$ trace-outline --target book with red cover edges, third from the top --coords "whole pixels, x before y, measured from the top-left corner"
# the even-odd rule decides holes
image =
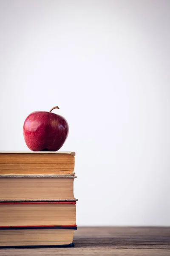
[[[0,227],[75,226],[76,202],[0,203]]]

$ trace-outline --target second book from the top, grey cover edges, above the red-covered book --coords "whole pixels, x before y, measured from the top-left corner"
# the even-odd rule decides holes
[[[73,193],[74,178],[0,175],[0,202],[77,201]]]

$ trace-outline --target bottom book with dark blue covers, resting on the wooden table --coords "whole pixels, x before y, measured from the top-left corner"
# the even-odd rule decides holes
[[[77,226],[0,227],[0,248],[73,247]]]

